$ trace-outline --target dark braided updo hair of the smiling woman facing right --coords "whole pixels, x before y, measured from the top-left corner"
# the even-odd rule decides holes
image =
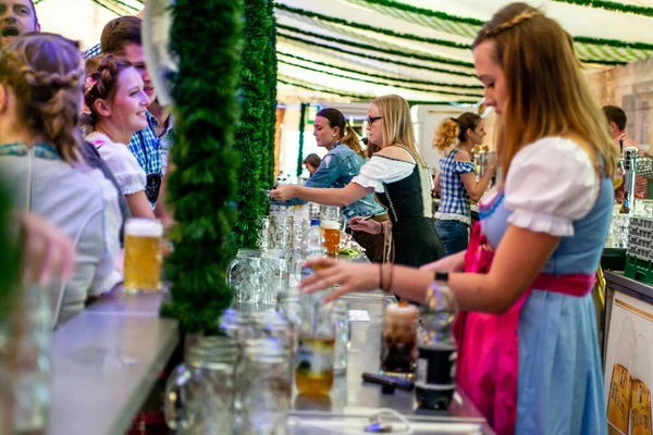
[[[88,112],[84,114],[82,124],[94,126],[98,122],[100,114],[95,108],[96,100],[113,98],[118,90],[119,75],[128,67],[132,67],[130,61],[113,54],[90,58],[86,61],[84,103]]]

